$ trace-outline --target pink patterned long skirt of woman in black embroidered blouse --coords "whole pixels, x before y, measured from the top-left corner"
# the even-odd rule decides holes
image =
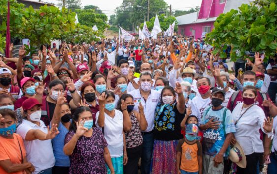
[[[176,146],[178,140],[160,141],[154,139],[150,174],[177,174]]]

